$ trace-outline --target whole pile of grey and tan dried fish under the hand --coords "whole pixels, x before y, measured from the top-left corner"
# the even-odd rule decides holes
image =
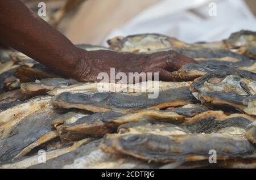
[[[151,99],[147,84],[99,92],[100,83],[63,79],[1,50],[0,168],[256,168],[256,32],[195,44],[157,34],[108,43],[77,46],[176,50],[198,64],[171,72],[173,82],[159,82]]]

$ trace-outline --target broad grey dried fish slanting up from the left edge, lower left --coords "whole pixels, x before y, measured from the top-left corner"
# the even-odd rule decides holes
[[[11,127],[9,135],[0,140],[0,161],[22,157],[38,145],[57,138],[57,133],[51,127],[51,121],[63,111],[48,107],[30,114],[16,123]],[[7,128],[5,128],[6,130]]]

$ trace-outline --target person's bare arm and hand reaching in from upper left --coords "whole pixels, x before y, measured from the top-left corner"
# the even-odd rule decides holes
[[[80,82],[97,81],[100,72],[159,72],[170,80],[170,71],[195,62],[174,51],[148,55],[122,54],[108,50],[88,52],[77,48],[18,0],[0,1],[0,40],[53,71]]]

